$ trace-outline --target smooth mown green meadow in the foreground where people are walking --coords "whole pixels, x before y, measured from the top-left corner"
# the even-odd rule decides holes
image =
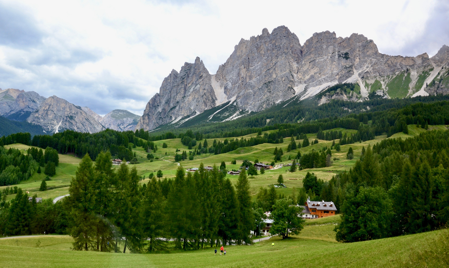
[[[447,229],[343,244],[335,242],[334,227],[308,225],[293,238],[275,237],[253,246],[225,246],[226,256],[214,255],[215,247],[168,254],[71,251],[69,236],[14,237],[0,239],[0,264],[2,268],[448,267]],[[272,242],[275,246],[271,246]]]

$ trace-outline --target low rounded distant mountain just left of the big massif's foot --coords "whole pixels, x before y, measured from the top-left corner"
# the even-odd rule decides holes
[[[111,130],[134,130],[141,116],[127,110],[114,110],[100,119],[101,125]]]

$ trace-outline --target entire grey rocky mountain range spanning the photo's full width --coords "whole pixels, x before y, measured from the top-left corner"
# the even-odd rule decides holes
[[[141,117],[127,110],[101,117],[57,96],[17,89],[0,89],[0,116],[39,125],[46,133],[150,131],[231,121],[304,99],[321,105],[332,99],[361,102],[448,93],[446,45],[432,57],[389,56],[363,35],[342,38],[325,31],[301,45],[286,26],[279,26],[241,39],[215,74],[199,57],[179,72],[173,69]]]

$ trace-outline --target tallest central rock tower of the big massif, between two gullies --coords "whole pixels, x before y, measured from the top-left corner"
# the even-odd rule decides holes
[[[285,26],[270,34],[241,39],[225,64],[220,65],[215,80],[227,99],[250,111],[261,111],[295,95],[296,73],[302,52],[298,37]]]

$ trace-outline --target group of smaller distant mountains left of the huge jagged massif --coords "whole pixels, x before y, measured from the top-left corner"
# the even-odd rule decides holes
[[[0,89],[0,116],[23,124],[8,126],[11,131],[24,128],[26,122],[42,127],[44,133],[64,130],[95,133],[107,128],[119,131],[134,130],[140,116],[127,110],[114,110],[101,117],[88,107],[71,104],[65,99],[45,98],[34,91]],[[11,122],[2,120],[2,125]],[[29,128],[26,126],[25,128]],[[31,128],[32,129],[32,128]],[[39,133],[39,130],[37,130]]]

